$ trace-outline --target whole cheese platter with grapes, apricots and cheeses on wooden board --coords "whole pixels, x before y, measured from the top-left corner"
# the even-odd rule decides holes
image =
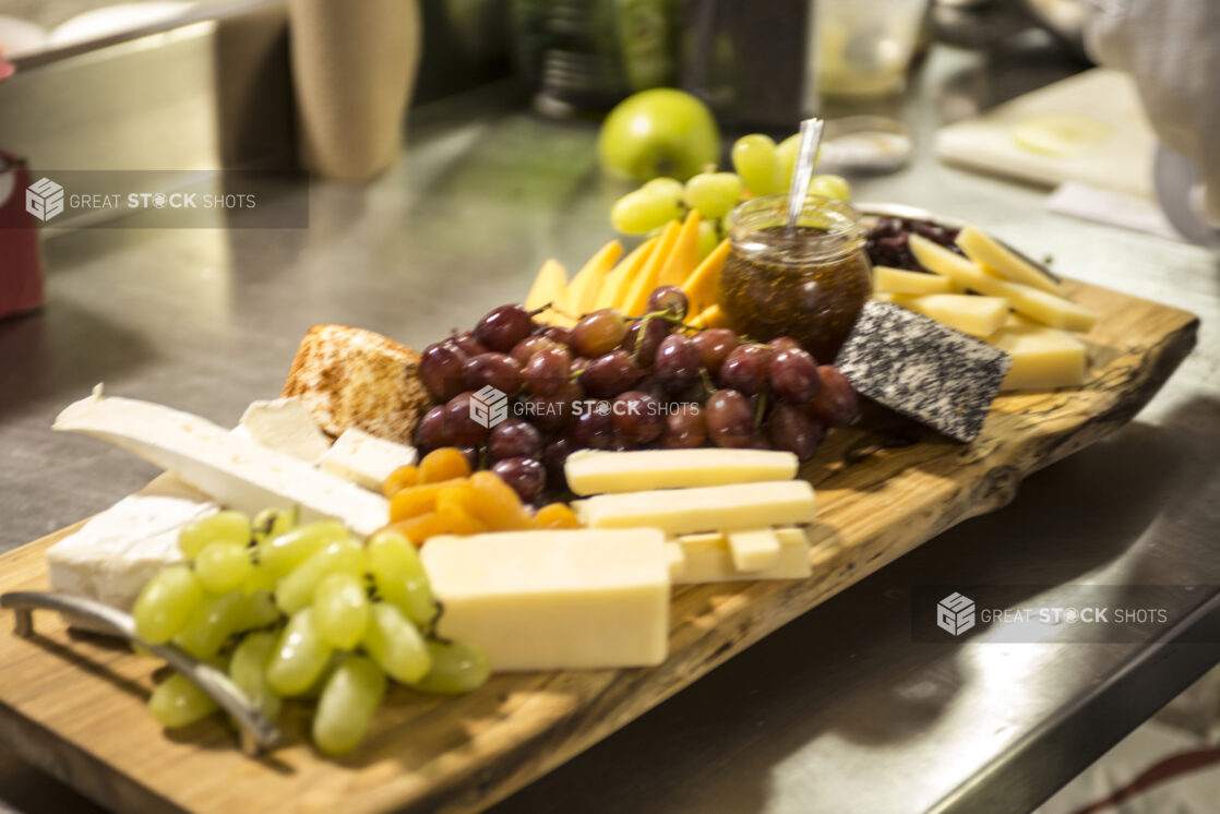
[[[803,239],[855,217],[811,212]],[[137,641],[227,674],[278,740],[244,754],[181,668],[13,609],[0,737],[120,810],[481,810],[1004,505],[1193,347],[1185,311],[950,218],[866,215],[843,229],[869,290],[837,336],[745,330],[784,309],[733,281],[854,261],[793,262],[756,221],[770,255],[732,226],[700,245],[691,206],[571,279],[549,261],[521,304],[422,353],[317,326],[233,431],[100,388],[68,405],[56,430],[166,474],[0,555],[0,594],[131,611]]]

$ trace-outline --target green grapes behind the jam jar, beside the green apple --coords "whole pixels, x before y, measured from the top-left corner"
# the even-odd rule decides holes
[[[689,210],[699,212],[699,256],[711,251],[728,233],[728,214],[748,198],[788,192],[800,137],[776,144],[769,135],[752,133],[733,144],[736,172],[706,172],[684,184],[673,178],[654,178],[627,193],[610,207],[610,225],[625,234],[649,234]],[[810,195],[848,200],[852,187],[841,176],[814,176]]]

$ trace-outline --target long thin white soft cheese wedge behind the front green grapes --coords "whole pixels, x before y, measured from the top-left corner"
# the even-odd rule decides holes
[[[379,494],[206,419],[149,402],[105,397],[100,388],[65,408],[52,430],[107,441],[176,474],[217,503],[249,514],[298,506],[303,521],[339,520],[362,536],[389,519],[389,502]]]

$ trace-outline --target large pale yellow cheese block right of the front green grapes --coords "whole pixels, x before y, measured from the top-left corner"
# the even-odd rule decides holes
[[[656,530],[442,536],[421,556],[444,607],[438,632],[481,646],[495,671],[665,660],[670,565]]]

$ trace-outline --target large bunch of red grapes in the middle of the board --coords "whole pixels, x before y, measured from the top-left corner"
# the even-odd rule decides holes
[[[458,447],[526,502],[562,491],[577,449],[783,449],[809,460],[827,427],[858,415],[855,391],[787,337],[743,340],[727,328],[683,325],[687,298],[661,286],[647,314],[586,314],[571,328],[501,305],[473,331],[428,345],[420,364],[436,406],[420,420],[421,454]],[[483,426],[471,410],[487,386],[506,419]]]

